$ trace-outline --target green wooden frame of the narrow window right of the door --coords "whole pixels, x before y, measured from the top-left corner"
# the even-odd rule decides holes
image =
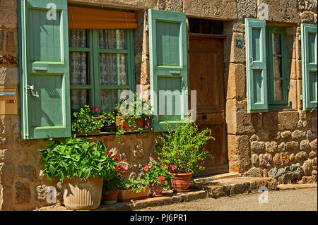
[[[273,35],[281,35],[281,54],[273,54]],[[281,73],[282,78],[275,78],[275,68],[273,66],[274,57],[281,57]],[[266,66],[268,78],[268,104],[269,109],[285,109],[290,108],[288,105],[288,74],[287,74],[287,47],[286,32],[283,27],[266,26]],[[275,81],[283,82],[283,100],[275,101]]]

